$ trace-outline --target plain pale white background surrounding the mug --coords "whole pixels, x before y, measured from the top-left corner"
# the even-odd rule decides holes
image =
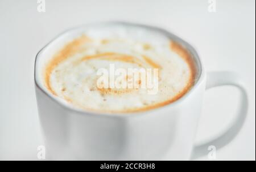
[[[67,28],[90,21],[122,20],[168,29],[191,43],[208,71],[242,75],[249,113],[240,134],[217,150],[217,160],[255,160],[255,1],[53,1],[0,0],[0,160],[37,160],[43,144],[34,90],[36,53]],[[197,141],[225,129],[236,113],[239,92],[207,91]],[[202,157],[199,160],[208,160]]]

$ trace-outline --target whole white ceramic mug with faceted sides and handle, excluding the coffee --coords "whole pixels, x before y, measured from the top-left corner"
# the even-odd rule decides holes
[[[66,40],[89,25],[134,25],[162,32],[184,46],[199,71],[195,85],[172,104],[131,114],[101,114],[73,108],[49,93],[42,79],[43,65]],[[108,22],[89,24],[64,32],[36,55],[35,88],[40,123],[46,141],[46,156],[53,160],[189,160],[228,144],[240,131],[247,111],[245,87],[233,72],[205,73],[195,49],[163,29],[146,25]],[[236,121],[220,137],[194,145],[205,89],[234,85],[242,92]],[[168,153],[168,158],[166,155]]]

